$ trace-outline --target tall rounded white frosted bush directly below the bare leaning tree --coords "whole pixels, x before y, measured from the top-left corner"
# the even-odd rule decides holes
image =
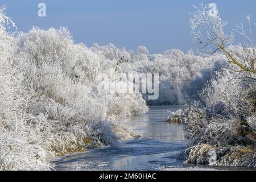
[[[246,84],[240,77],[239,74],[224,70],[222,73],[217,73],[216,78],[203,89],[200,97],[210,109],[210,113],[241,115],[241,117],[250,115],[254,106],[248,100],[250,97],[248,94],[254,88],[254,82]]]

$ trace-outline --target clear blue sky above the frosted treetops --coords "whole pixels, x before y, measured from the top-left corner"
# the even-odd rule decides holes
[[[46,18],[38,17],[38,3],[46,3]],[[75,42],[92,46],[93,43],[136,50],[146,46],[151,53],[166,49],[183,51],[197,46],[191,42],[189,14],[192,5],[214,2],[222,17],[229,22],[245,22],[250,14],[256,22],[255,0],[187,1],[187,0],[1,0],[6,13],[12,17],[19,31],[32,26],[44,29],[68,27]],[[256,34],[256,32],[255,32]]]

